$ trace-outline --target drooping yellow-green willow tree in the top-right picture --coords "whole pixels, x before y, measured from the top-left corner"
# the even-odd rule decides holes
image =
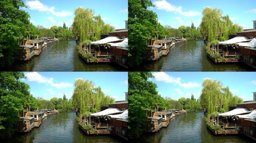
[[[201,33],[208,35],[208,42],[225,41],[229,35],[242,31],[242,27],[233,24],[228,15],[223,15],[221,9],[205,7],[202,12]]]

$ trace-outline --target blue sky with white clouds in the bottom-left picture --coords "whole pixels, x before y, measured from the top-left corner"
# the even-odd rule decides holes
[[[105,95],[115,101],[125,100],[124,92],[128,91],[127,72],[25,72],[25,76],[21,81],[30,86],[32,95],[48,100],[63,98],[63,93],[70,99],[78,78],[93,80],[95,86],[100,86]]]

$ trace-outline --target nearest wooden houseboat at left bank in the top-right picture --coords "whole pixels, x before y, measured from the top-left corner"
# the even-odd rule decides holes
[[[148,50],[146,51],[146,57],[144,60],[146,61],[154,61],[158,60],[162,57],[162,45],[150,45],[148,46]]]

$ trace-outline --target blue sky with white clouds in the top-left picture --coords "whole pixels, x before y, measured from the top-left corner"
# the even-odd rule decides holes
[[[115,29],[124,29],[124,20],[128,19],[127,0],[23,0],[27,8],[22,7],[30,14],[33,25],[71,26],[74,10],[77,7],[94,9],[96,15],[101,15],[105,23]]]

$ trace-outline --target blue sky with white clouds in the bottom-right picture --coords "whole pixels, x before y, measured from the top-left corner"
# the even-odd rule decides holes
[[[223,86],[228,86],[233,95],[243,98],[243,101],[253,100],[256,91],[256,72],[152,72],[158,86],[158,93],[162,97],[178,100],[181,97],[196,99],[202,90],[205,78],[220,80]]]

